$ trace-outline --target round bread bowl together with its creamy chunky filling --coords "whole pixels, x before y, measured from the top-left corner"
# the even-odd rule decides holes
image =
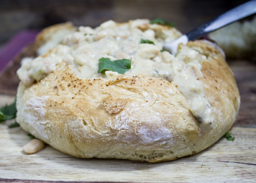
[[[17,71],[17,122],[76,157],[160,162],[204,150],[235,122],[239,91],[222,52],[209,42],[180,44],[175,56],[162,50],[179,36],[147,19],[72,29],[62,44]],[[101,58],[127,59],[131,68],[101,73]]]

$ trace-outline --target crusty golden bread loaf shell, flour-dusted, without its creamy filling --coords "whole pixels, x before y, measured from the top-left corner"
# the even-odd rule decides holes
[[[155,29],[171,30],[172,39],[180,36],[174,28],[157,25]],[[198,54],[194,60],[201,60],[202,76],[195,80],[203,83],[213,121],[204,121],[193,112],[190,95],[175,78],[168,81],[132,71],[82,78],[74,65],[61,61],[51,72],[35,78],[35,83],[20,82],[17,122],[36,138],[77,157],[160,162],[198,153],[230,130],[240,96],[218,49],[205,41],[190,41],[179,45],[172,62],[177,58],[189,62],[186,49]],[[168,54],[158,52],[156,57]],[[44,57],[53,53],[54,49]],[[200,73],[195,66],[191,70]]]

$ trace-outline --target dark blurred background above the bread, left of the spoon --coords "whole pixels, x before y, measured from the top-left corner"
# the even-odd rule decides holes
[[[41,30],[66,21],[98,26],[112,19],[163,18],[175,22],[183,33],[223,13],[244,0],[1,0],[0,49],[24,29]]]

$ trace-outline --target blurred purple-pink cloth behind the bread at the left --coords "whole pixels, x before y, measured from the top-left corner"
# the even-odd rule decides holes
[[[35,41],[37,30],[23,30],[13,36],[0,50],[0,71],[18,52],[30,42]]]

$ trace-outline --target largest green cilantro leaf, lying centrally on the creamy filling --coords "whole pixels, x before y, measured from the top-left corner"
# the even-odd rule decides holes
[[[131,68],[131,60],[128,59],[111,61],[109,58],[102,57],[99,61],[98,73],[101,74],[104,74],[107,70],[118,72],[119,74],[125,74],[125,72]]]

